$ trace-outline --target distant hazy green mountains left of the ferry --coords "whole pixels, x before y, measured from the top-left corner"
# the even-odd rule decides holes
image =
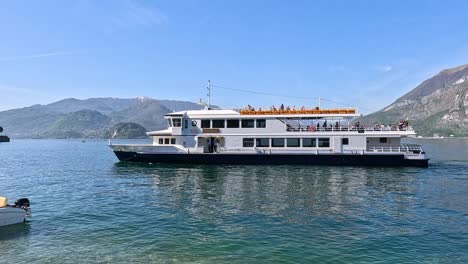
[[[2,111],[0,125],[13,138],[107,138],[110,130],[118,130],[117,137],[141,137],[143,130],[165,128],[166,113],[201,108],[192,102],[148,97],[68,98]]]

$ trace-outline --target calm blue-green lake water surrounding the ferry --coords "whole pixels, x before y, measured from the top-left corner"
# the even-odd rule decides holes
[[[0,263],[468,263],[468,140],[429,168],[118,163],[106,141],[0,143]]]

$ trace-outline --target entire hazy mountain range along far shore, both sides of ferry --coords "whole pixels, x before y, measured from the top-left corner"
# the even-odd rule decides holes
[[[148,130],[167,126],[164,114],[196,110],[186,101],[90,98],[64,99],[0,112],[0,126],[13,138],[144,137]],[[408,120],[422,136],[468,136],[468,64],[445,69],[425,80],[361,123],[396,124]]]

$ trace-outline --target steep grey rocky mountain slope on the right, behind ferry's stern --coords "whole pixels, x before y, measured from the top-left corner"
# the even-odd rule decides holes
[[[395,123],[406,118],[422,136],[468,136],[468,64],[441,71],[363,121]]]

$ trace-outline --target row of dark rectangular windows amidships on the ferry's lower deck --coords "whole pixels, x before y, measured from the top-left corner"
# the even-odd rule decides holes
[[[262,148],[329,148],[330,138],[243,138],[242,146],[244,148],[262,147]]]

